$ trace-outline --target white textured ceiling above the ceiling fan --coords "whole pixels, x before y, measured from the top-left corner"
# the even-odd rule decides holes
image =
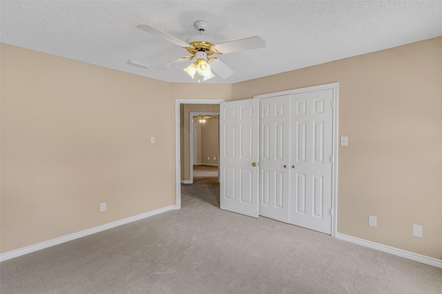
[[[198,82],[160,66],[186,50],[136,27],[185,41],[197,20],[216,43],[260,36],[267,47],[220,55],[233,84],[442,36],[442,1],[3,1],[0,41],[169,82]],[[441,52],[442,54],[442,52]],[[190,61],[189,61],[190,63]]]

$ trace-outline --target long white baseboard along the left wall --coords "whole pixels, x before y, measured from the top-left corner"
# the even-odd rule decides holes
[[[37,243],[34,245],[30,245],[30,246],[26,246],[23,248],[19,248],[17,250],[14,251],[9,251],[3,254],[0,254],[0,262],[3,262],[5,260],[11,259],[11,258],[15,258],[15,257],[19,257],[21,255],[25,255],[28,253],[32,253],[35,251],[39,251],[41,249],[44,248],[48,248],[50,246],[55,246],[64,242],[68,242],[68,241],[72,241],[73,239],[78,239],[81,237],[85,237],[87,235],[92,235],[101,231],[105,231],[108,230],[109,228],[115,228],[116,226],[122,226],[123,224],[128,224],[130,222],[135,222],[137,220],[140,219],[145,219],[146,217],[151,217],[153,215],[158,215],[160,213],[165,213],[166,211],[169,210],[174,210],[176,209],[175,205],[170,205],[170,206],[166,206],[166,207],[162,207],[162,208],[158,208],[155,210],[151,210],[148,211],[147,213],[141,213],[140,215],[134,215],[133,217],[127,217],[125,219],[120,219],[117,220],[115,222],[110,222],[108,224],[103,224],[101,226],[95,226],[94,228],[88,228],[87,230],[84,231],[79,231],[77,233],[72,233],[69,235],[64,235],[55,239],[50,239],[48,241],[44,241],[41,243]]]

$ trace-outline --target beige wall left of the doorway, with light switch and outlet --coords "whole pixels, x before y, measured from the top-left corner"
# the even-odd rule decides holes
[[[175,204],[171,84],[0,49],[1,253]]]

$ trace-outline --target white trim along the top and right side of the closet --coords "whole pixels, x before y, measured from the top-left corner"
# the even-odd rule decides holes
[[[273,92],[264,95],[253,96],[253,99],[265,99],[275,96],[299,94],[316,90],[333,90],[333,122],[332,122],[332,237],[336,237],[338,219],[338,115],[339,115],[339,83],[323,84],[306,88]]]

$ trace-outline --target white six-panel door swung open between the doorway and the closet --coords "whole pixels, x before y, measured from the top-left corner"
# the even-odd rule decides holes
[[[258,217],[258,99],[220,104],[220,208]]]

